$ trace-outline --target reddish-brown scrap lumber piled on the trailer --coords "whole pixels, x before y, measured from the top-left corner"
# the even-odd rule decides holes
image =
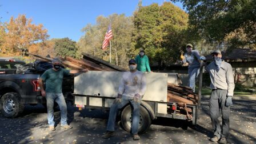
[[[53,58],[42,57],[40,55],[30,54],[34,57],[43,59],[44,61],[50,62]],[[75,70],[89,69],[93,71],[126,71],[125,68],[113,65],[107,61],[103,61],[93,55],[82,53],[82,59],[74,59],[72,57],[61,58],[61,63],[63,66],[70,67]],[[198,95],[193,93],[190,87],[176,85],[173,83],[168,83],[167,85],[167,102],[175,102],[178,105],[177,113],[187,115],[190,119],[192,110],[187,107],[189,105],[196,105],[198,100]]]

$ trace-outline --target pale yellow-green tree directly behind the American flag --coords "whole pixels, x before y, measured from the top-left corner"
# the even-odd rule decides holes
[[[99,16],[95,25],[87,25],[82,29],[85,35],[79,39],[79,51],[93,54],[98,58],[110,60],[110,46],[102,50],[106,30],[111,23],[113,39],[111,39],[111,62],[127,67],[128,59],[132,58],[133,43],[131,41],[133,21],[125,14],[112,14],[109,17]]]

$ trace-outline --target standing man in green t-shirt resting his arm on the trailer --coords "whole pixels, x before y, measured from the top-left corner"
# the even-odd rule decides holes
[[[54,101],[58,103],[59,109],[61,109],[61,127],[65,129],[71,129],[72,127],[67,125],[67,106],[62,94],[62,81],[63,77],[69,74],[75,74],[79,72],[87,72],[88,69],[79,70],[66,70],[61,68],[61,61],[54,58],[51,62],[53,69],[46,70],[39,78],[39,86],[41,88],[41,94],[46,97],[47,101],[47,119],[49,123],[49,129],[55,130],[54,127],[54,115],[53,107]],[[43,82],[46,83],[46,89],[43,87]]]

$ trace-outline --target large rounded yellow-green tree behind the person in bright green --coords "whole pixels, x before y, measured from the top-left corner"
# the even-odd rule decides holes
[[[170,2],[153,3],[134,13],[134,43],[145,49],[149,58],[158,62],[175,62],[186,43],[188,15]]]

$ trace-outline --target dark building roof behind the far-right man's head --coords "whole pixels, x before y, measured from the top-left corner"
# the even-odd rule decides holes
[[[256,50],[234,49],[231,52],[221,51],[222,59],[227,62],[256,61]],[[207,60],[211,60],[211,55],[206,55]]]

